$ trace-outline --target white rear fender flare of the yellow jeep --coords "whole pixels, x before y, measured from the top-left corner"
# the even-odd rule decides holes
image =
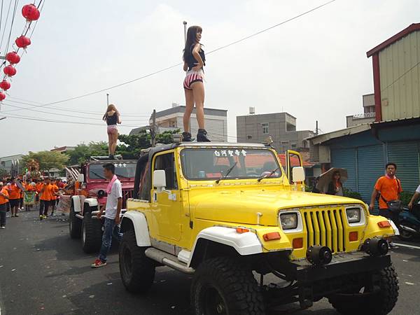
[[[136,235],[137,246],[151,246],[151,237],[148,232],[146,216],[139,211],[127,211],[121,219],[121,230],[124,233],[130,230],[130,226],[134,229]]]

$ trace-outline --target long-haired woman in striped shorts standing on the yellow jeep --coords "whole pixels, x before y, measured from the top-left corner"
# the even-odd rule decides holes
[[[183,116],[183,141],[191,141],[190,117],[193,113],[194,104],[198,122],[197,141],[209,142],[207,132],[204,129],[204,71],[206,57],[202,44],[200,44],[202,28],[192,26],[188,28],[186,47],[183,50],[183,70],[187,71],[183,81],[186,94],[186,112]]]

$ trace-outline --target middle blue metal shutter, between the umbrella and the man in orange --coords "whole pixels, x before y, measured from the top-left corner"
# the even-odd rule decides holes
[[[357,161],[358,193],[369,204],[374,184],[384,175],[384,147],[378,145],[358,148]]]

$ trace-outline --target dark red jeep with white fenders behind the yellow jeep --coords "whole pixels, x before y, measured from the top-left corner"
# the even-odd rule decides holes
[[[113,163],[116,176],[123,186],[123,210],[126,202],[132,197],[134,175],[137,160],[108,160],[107,157],[91,157],[90,161],[79,167],[69,167],[67,172],[76,180],[74,193],[71,196],[69,232],[72,239],[82,239],[85,253],[99,251],[102,244],[103,217],[97,218],[99,207],[106,204],[106,187],[109,181],[104,178],[103,165]]]

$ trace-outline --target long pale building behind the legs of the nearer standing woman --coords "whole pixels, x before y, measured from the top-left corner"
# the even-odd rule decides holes
[[[172,104],[172,108],[156,112],[156,125],[158,132],[166,130],[183,130],[183,114],[186,106]],[[150,122],[151,123],[151,122]],[[211,141],[228,141],[228,111],[225,109],[204,109],[204,125]],[[137,134],[147,130],[148,126],[133,129],[130,134]],[[191,114],[190,130],[193,137],[198,132],[197,116],[195,109]]]

